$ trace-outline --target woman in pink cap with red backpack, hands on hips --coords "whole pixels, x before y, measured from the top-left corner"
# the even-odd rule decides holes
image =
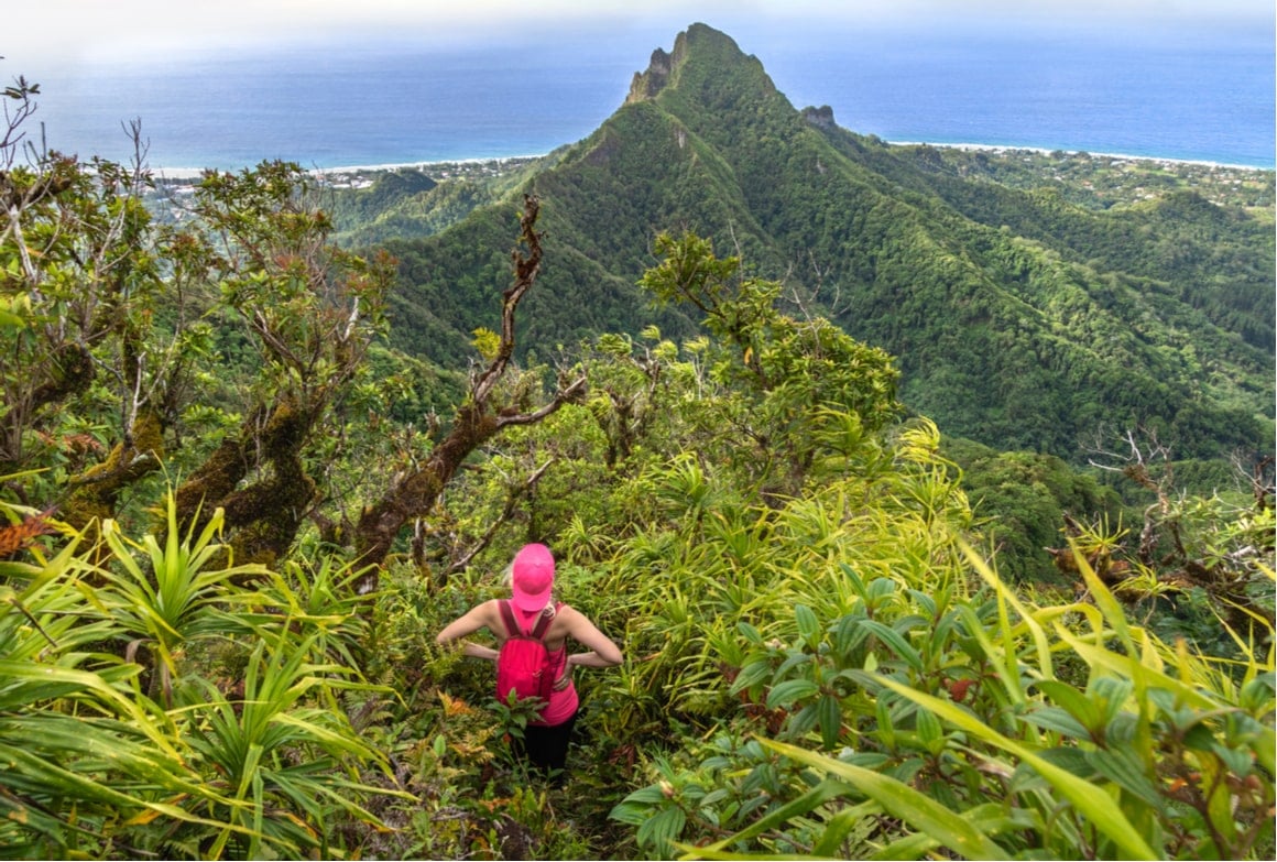
[[[493,599],[475,605],[448,623],[435,640],[450,644],[480,628],[490,631],[497,639],[497,649],[462,641],[462,653],[498,663],[498,679],[502,682],[497,697],[502,701],[506,701],[508,691],[501,691],[501,687],[513,687],[515,683],[506,681],[520,676],[520,670],[511,669],[511,664],[527,660],[525,656],[534,655],[533,650],[540,651],[539,646],[529,647],[527,641],[531,639],[544,644],[545,654],[538,660],[545,664],[544,668],[536,668],[538,673],[544,673],[544,683],[536,696],[545,700],[545,706],[541,707],[540,716],[529,722],[525,728],[522,750],[527,760],[541,770],[562,770],[578,705],[572,668],[609,668],[621,664],[621,650],[585,614],[553,600],[554,557],[545,545],[524,545],[515,556],[510,567],[510,599]],[[590,651],[570,654],[568,637]],[[507,646],[507,641],[515,642]],[[522,654],[515,658],[511,653],[515,653],[516,646],[527,649],[522,649]],[[521,684],[518,683],[520,691]]]

